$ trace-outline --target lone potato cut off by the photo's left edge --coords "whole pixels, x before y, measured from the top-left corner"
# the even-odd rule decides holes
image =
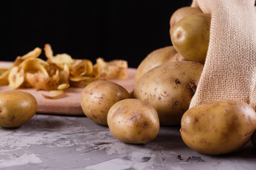
[[[36,98],[25,91],[0,92],[0,126],[18,128],[33,118],[38,108]]]

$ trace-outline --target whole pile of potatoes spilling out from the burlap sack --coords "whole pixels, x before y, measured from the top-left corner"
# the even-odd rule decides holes
[[[210,20],[200,8],[178,8],[170,19],[173,45],[142,60],[133,97],[117,84],[94,82],[82,92],[85,115],[128,143],[149,142],[160,126],[181,125],[183,142],[205,154],[234,152],[251,138],[256,146],[256,113],[247,103],[221,100],[188,109],[206,60]]]

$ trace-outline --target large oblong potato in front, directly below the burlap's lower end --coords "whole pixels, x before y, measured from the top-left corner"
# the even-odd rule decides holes
[[[256,128],[256,113],[243,101],[220,100],[196,106],[181,119],[183,142],[204,154],[228,154],[240,149]]]

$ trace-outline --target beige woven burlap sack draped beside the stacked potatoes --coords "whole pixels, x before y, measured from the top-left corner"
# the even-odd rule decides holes
[[[190,108],[239,99],[256,109],[256,13],[254,0],[193,0],[211,13],[206,63]]]

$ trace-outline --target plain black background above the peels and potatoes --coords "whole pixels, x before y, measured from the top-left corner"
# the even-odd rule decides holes
[[[129,67],[153,50],[171,45],[171,14],[191,1],[6,1],[1,4],[1,60],[14,61],[49,43],[95,63],[127,60]],[[44,53],[42,59],[46,59]]]

